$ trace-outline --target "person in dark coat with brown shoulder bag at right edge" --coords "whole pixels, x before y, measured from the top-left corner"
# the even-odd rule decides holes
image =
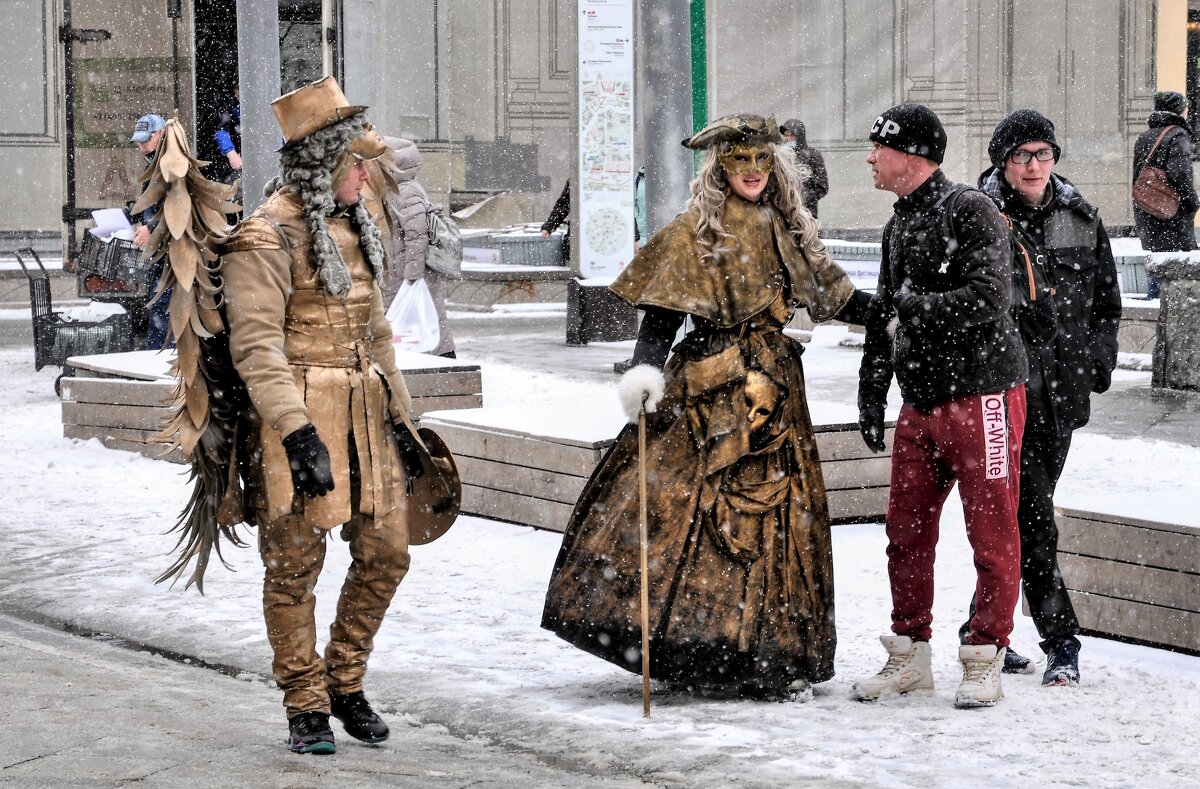
[[[1154,94],[1154,112],[1133,146],[1133,181],[1150,158],[1154,141],[1162,138],[1152,164],[1166,170],[1166,182],[1180,195],[1180,210],[1169,219],[1146,213],[1136,204],[1133,218],[1138,237],[1147,252],[1190,252],[1196,248],[1195,217],[1200,207],[1192,175],[1192,134],[1188,131],[1188,102],[1182,94],[1164,90]],[[1158,281],[1151,278],[1147,299],[1158,299]]]

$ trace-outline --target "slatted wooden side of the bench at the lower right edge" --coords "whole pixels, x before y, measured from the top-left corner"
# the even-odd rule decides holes
[[[1058,565],[1087,634],[1200,654],[1200,526],[1056,514]]]

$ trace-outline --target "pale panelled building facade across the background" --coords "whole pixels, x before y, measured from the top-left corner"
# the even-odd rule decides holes
[[[708,115],[803,119],[829,168],[822,223],[869,234],[890,205],[871,189],[864,162],[880,110],[930,104],[949,132],[948,174],[973,181],[996,121],[1034,107],[1058,127],[1060,170],[1109,224],[1129,224],[1132,147],[1151,97],[1189,85],[1189,6],[1200,4],[708,0]],[[6,0],[5,7],[0,170],[8,188],[0,197],[0,245],[61,233],[67,130],[59,29],[67,11],[76,28],[112,34],[74,43],[79,206],[136,197],[140,163],[125,139],[142,112],[178,110],[193,140],[208,144],[236,64],[228,50],[235,0]],[[372,107],[377,126],[416,139],[422,181],[436,198],[463,205],[504,192],[503,218],[544,218],[572,162],[576,0],[281,0],[280,8],[290,78],[334,73],[353,102]],[[211,156],[203,145],[200,155]]]

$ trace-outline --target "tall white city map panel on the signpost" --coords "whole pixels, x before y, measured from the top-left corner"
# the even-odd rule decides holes
[[[580,0],[580,276],[634,257],[634,2]]]

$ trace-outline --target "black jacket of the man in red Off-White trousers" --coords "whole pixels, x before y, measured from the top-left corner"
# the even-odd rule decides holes
[[[996,205],[937,170],[894,207],[866,325],[859,408],[886,403],[893,372],[905,403],[922,411],[1024,384],[1025,345],[1009,315],[1009,235]]]

